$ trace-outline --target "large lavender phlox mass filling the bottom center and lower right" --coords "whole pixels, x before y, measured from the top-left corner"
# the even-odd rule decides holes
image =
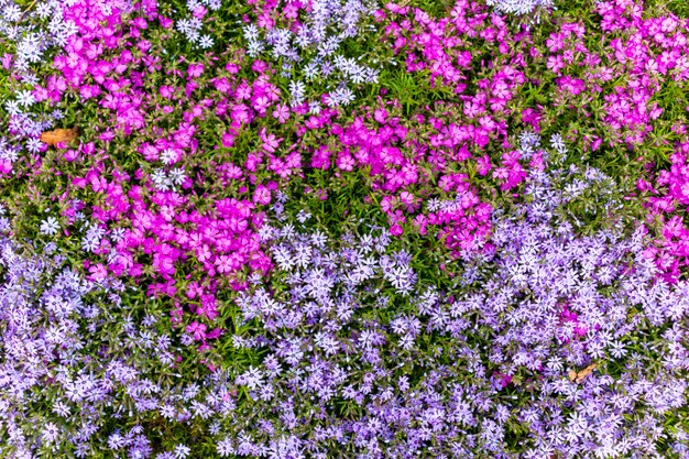
[[[522,144],[548,157],[538,136]],[[669,438],[685,453],[664,414],[688,389],[689,284],[656,280],[643,228],[577,232],[568,203],[617,198],[595,170],[557,168],[560,153],[496,212],[492,253],[449,263],[453,285],[419,280],[378,228],[338,241],[265,225],[276,267],[237,300],[232,337],[264,359],[236,380],[250,409],[219,452],[660,458]]]

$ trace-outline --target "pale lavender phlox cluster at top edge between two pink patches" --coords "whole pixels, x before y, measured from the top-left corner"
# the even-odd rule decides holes
[[[273,19],[275,11],[280,11],[278,21]],[[282,75],[298,70],[300,79],[289,84],[292,106],[304,103],[308,96],[315,97],[308,102],[310,109],[319,107],[321,95],[307,89],[304,81],[317,81],[319,86],[331,81],[325,85],[325,103],[347,106],[354,100],[350,86],[378,83],[379,69],[362,64],[364,55],[346,57],[339,48],[344,41],[361,34],[375,11],[376,4],[371,0],[267,1],[262,8],[256,7],[255,23],[243,25],[247,53],[282,63]]]

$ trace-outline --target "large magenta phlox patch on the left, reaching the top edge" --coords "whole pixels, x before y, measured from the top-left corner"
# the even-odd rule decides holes
[[[107,127],[96,143],[59,149],[55,166],[57,174],[69,178],[61,199],[66,205],[63,217],[67,223],[79,225],[78,215],[84,210],[97,228],[97,236],[85,238],[95,255],[95,260],[84,262],[90,278],[99,281],[111,272],[144,281],[149,295],[184,302],[183,307],[176,300],[173,323],[181,321],[183,309],[212,321],[219,314],[215,294],[220,286],[241,288],[245,280],[240,273],[247,269],[265,273],[271,267],[254,232],[263,216],[254,209],[270,203],[276,183],[261,184],[252,174],[255,163],[270,156],[271,170],[280,178],[299,165],[299,156],[277,160],[273,153],[280,140],[263,131],[261,150],[249,155],[243,168],[230,161],[211,161],[205,171],[192,176],[203,154],[196,138],[198,123],[207,117],[227,120],[228,129],[216,146],[219,152],[220,147],[231,147],[254,118],[267,117],[274,109],[273,118],[285,122],[288,112],[275,103],[280,91],[263,74],[267,69],[264,63],[254,63],[254,81],[237,78],[239,66],[231,62],[220,76],[206,80],[199,78],[205,70],[203,63],[185,63],[186,73],[177,66],[162,69],[144,31],[152,21],[164,29],[172,23],[157,15],[155,2],[142,7],[135,12],[143,12],[143,17],[133,18],[118,6],[107,13],[97,2],[68,7],[65,15],[75,21],[78,33],[55,57],[59,73],[37,86],[34,94],[54,105],[65,94],[74,94],[84,102],[95,101],[103,120],[100,127]],[[161,85],[152,94],[146,80],[161,72],[179,84]],[[200,89],[210,91],[210,97],[195,97],[200,91],[199,81],[206,83]],[[151,114],[157,122],[151,121]],[[163,130],[161,120],[173,122]],[[146,130],[151,134],[142,135]],[[124,161],[122,152],[110,146],[116,139],[131,139]],[[125,171],[132,152],[135,161],[143,160],[136,161],[140,167],[133,174]],[[217,193],[227,187],[234,188],[237,197]],[[211,208],[200,210],[199,198],[212,203]],[[89,205],[85,207],[85,203]],[[198,275],[199,269],[205,276]],[[204,342],[219,336],[218,329],[206,332],[205,325],[190,327],[194,337]]]

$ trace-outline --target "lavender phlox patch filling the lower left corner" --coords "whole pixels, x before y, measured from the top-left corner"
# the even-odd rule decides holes
[[[179,343],[154,305],[125,306],[120,281],[62,269],[54,244],[31,255],[8,227],[0,218],[0,456],[149,458],[163,431],[212,430],[211,415],[231,412],[219,374],[181,379]],[[168,447],[157,457],[188,451]]]

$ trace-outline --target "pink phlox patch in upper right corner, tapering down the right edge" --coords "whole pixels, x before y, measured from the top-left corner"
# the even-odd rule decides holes
[[[660,222],[649,253],[665,278],[677,281],[688,262],[681,168],[689,23],[641,0],[600,1],[586,14],[586,20],[562,14],[545,22],[528,53],[539,69],[526,74],[539,90],[555,83],[553,91],[544,91],[549,112],[544,121],[567,120],[565,138],[586,160],[609,167],[611,157],[624,157],[635,168],[624,176],[637,182],[642,197],[634,200]],[[665,96],[671,102],[661,102]]]

